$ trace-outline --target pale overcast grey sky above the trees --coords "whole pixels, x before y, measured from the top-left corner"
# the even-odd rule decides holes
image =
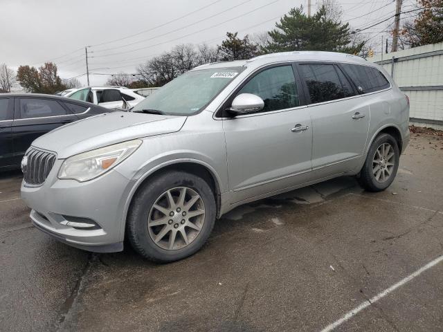
[[[365,28],[395,13],[393,0],[336,0],[343,21]],[[317,8],[311,0],[311,12]],[[415,0],[404,0],[413,9]],[[136,73],[136,66],[177,44],[221,44],[226,32],[239,36],[271,30],[282,15],[307,0],[0,0],[0,64],[41,66],[52,61],[62,78],[86,73]],[[375,10],[375,11],[374,11]],[[374,12],[372,12],[374,11]],[[371,13],[372,12],[372,13]],[[365,30],[381,49],[381,36],[393,18]],[[129,37],[132,36],[132,37]],[[104,84],[109,75],[90,75]],[[86,76],[78,77],[86,84]]]

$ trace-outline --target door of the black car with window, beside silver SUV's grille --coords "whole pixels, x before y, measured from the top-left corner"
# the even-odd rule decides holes
[[[21,160],[33,140],[63,124],[78,120],[60,102],[46,98],[15,98],[12,136],[15,160]]]

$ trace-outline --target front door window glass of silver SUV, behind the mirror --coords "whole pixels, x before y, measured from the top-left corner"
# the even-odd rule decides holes
[[[264,101],[263,111],[278,111],[300,106],[292,66],[278,66],[255,75],[237,93],[253,93]]]

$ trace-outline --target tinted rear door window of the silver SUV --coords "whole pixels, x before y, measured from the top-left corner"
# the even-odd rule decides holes
[[[309,91],[311,104],[328,102],[352,95],[350,83],[344,79],[344,86],[333,64],[300,64],[302,77]]]

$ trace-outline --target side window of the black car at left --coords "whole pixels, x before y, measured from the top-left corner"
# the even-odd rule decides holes
[[[55,100],[24,98],[20,100],[19,118],[42,118],[44,116],[66,116],[66,110]]]

